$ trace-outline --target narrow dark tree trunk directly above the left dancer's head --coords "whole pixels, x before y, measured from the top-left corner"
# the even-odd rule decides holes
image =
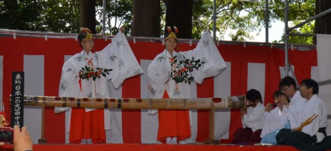
[[[79,0],[79,26],[96,33],[95,0]]]

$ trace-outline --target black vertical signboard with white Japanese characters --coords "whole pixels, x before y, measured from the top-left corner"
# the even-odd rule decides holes
[[[13,72],[11,96],[11,127],[23,127],[24,72]]]

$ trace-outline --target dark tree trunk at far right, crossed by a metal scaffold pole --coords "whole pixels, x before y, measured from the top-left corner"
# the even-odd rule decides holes
[[[315,15],[322,13],[331,8],[330,0],[316,0]],[[315,20],[316,34],[331,34],[331,13],[324,15]],[[316,37],[314,37],[314,44],[316,44]]]

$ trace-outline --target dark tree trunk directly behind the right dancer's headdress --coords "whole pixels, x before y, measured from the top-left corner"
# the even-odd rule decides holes
[[[164,0],[166,4],[166,27],[176,26],[179,30],[178,38],[191,39],[192,38],[192,0],[171,1]]]

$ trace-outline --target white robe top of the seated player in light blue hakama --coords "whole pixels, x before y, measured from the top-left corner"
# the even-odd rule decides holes
[[[278,106],[270,110],[270,112],[264,112],[264,124],[260,137],[269,134],[275,130],[282,129],[285,127],[288,121],[288,109],[283,105],[283,110]]]

